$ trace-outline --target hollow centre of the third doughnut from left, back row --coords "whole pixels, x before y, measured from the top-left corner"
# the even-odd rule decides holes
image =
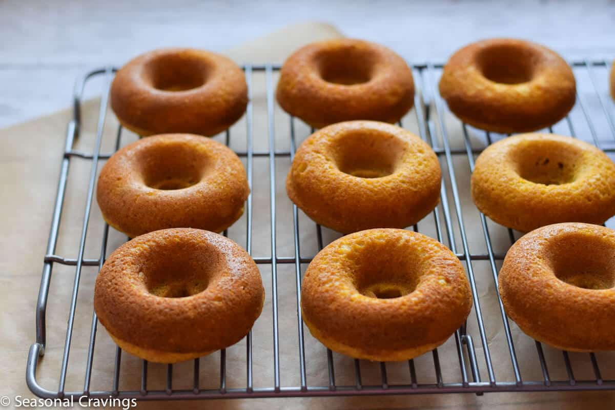
[[[522,84],[534,76],[537,56],[534,50],[512,44],[485,47],[477,54],[483,76],[499,84]]]

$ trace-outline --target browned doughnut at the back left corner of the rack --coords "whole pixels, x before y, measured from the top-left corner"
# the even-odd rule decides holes
[[[141,136],[226,130],[248,103],[242,70],[223,55],[193,49],[161,49],[134,58],[111,84],[111,108],[119,122]]]

